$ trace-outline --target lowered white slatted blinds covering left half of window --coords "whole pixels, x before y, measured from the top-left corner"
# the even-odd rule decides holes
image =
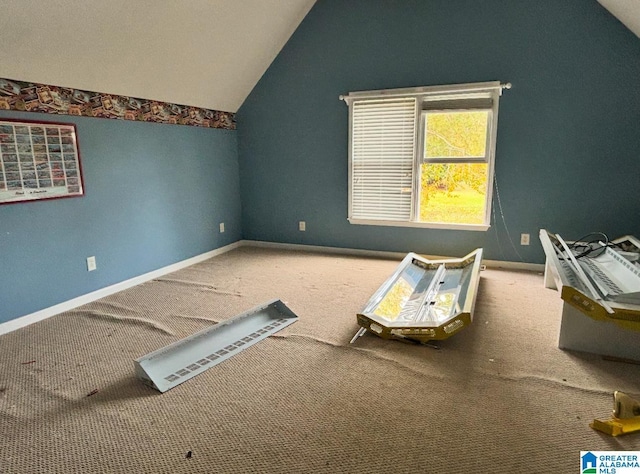
[[[351,103],[350,219],[411,219],[416,99]]]

